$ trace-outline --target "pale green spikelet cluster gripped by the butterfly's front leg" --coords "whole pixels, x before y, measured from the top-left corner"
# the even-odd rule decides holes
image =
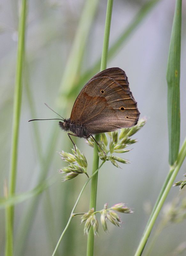
[[[85,173],[87,176],[87,159],[84,154],[76,147],[72,149],[73,154],[60,152],[62,160],[68,163],[67,167],[63,167],[59,170],[60,173],[65,174],[63,181],[71,180],[78,174]]]

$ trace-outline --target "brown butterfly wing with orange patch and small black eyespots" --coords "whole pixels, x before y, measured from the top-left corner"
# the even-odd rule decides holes
[[[70,120],[95,134],[131,127],[137,123],[139,114],[125,72],[108,68],[83,87],[74,102]]]

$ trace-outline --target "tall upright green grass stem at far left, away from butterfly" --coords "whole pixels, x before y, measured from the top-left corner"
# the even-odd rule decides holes
[[[20,18],[19,18],[19,31],[18,31],[18,50],[17,50],[14,106],[13,106],[13,124],[12,124],[12,150],[11,150],[8,196],[13,196],[15,194],[15,187],[16,187],[26,16],[27,16],[27,1],[22,0],[21,12],[20,12]],[[14,222],[14,206],[12,205],[7,207],[6,209],[6,246],[5,246],[6,256],[13,255],[13,222]]]

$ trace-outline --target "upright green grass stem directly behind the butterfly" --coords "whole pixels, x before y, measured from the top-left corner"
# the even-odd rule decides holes
[[[108,0],[100,71],[106,69],[106,66],[107,66],[109,36],[110,36],[111,18],[112,18],[112,6],[113,6],[113,0]],[[100,134],[97,134],[95,136],[95,139],[99,141],[99,138],[100,138]],[[98,165],[99,165],[98,147],[97,147],[97,144],[94,143],[92,174],[94,174],[94,172],[97,170]],[[90,207],[89,207],[89,209],[94,208],[95,211],[96,211],[96,198],[97,198],[97,178],[98,178],[98,173],[94,176],[91,182]],[[93,253],[94,253],[94,233],[91,227],[89,230],[88,239],[87,239],[87,256],[93,256]]]

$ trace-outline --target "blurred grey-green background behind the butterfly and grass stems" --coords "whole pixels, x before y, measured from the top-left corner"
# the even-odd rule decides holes
[[[144,3],[140,0],[114,1],[110,45],[116,42]],[[75,77],[76,82],[73,83],[74,93],[71,92],[67,98],[65,92],[68,83],[63,84],[61,81],[64,81],[62,77],[84,4],[85,1],[82,0],[29,1],[16,191],[17,194],[29,191],[46,177],[55,176],[55,181],[42,194],[16,205],[15,256],[51,255],[74,202],[87,179],[85,175],[79,175],[74,180],[61,182],[61,174],[58,174],[57,170],[64,166],[64,163],[58,156],[58,152],[60,150],[70,152],[72,144],[67,134],[59,131],[57,120],[40,121],[37,124],[27,122],[32,118],[57,118],[46,108],[44,102],[54,110],[63,107],[63,111],[59,114],[70,117],[75,98],[91,78],[87,76],[87,80],[81,79],[101,56],[106,0],[100,1],[97,5],[88,39],[84,42],[85,50]],[[125,70],[130,89],[138,102],[141,117],[146,116],[148,122],[134,136],[139,140],[134,145],[134,149],[124,155],[124,158],[132,163],[123,164],[122,169],[115,168],[111,163],[105,163],[99,172],[97,210],[102,209],[105,203],[111,206],[123,202],[134,210],[134,214],[121,216],[124,222],[122,228],[108,225],[109,234],[105,234],[100,225],[99,237],[95,238],[95,255],[97,256],[134,254],[148,220],[144,205],[154,204],[169,170],[166,66],[174,4],[173,0],[159,1],[122,44],[117,54],[108,61],[108,68],[120,67]],[[9,175],[18,12],[18,1],[0,1],[1,197],[3,197],[4,180],[8,179]],[[183,1],[181,143],[186,135],[185,20],[186,3]],[[73,74],[73,67],[71,72]],[[57,100],[60,84],[62,87],[60,100],[66,99],[66,102],[61,102],[61,105],[60,100]],[[75,89],[78,84],[78,89]],[[56,132],[53,132],[54,126]],[[38,132],[37,140],[35,140],[35,130]],[[51,139],[52,133],[56,134],[56,138],[54,136]],[[78,138],[76,143],[85,153],[89,165],[88,172],[91,173],[93,149],[83,139]],[[184,163],[177,180],[182,180],[185,170]],[[172,188],[167,202],[171,201],[177,193],[178,188]],[[81,197],[76,212],[87,212],[88,209],[89,186]],[[185,222],[172,224],[164,229],[151,255],[171,255],[171,252],[185,241],[184,230]],[[1,209],[1,255],[4,255],[4,237],[4,210]],[[58,255],[86,255],[86,240],[83,225],[80,226],[80,217],[77,216],[66,232]]]

